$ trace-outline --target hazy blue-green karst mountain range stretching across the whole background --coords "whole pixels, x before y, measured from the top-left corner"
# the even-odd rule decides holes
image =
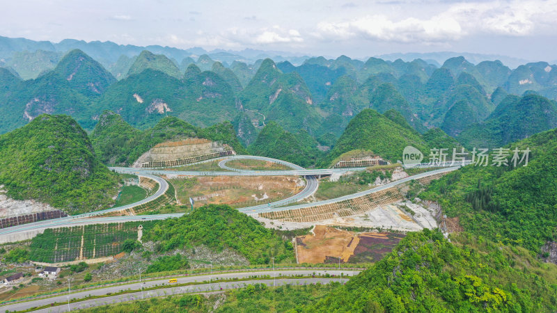
[[[103,64],[81,49],[56,50],[72,45],[110,56],[113,63]],[[44,49],[22,51],[34,47]],[[398,152],[358,138],[400,133],[398,126],[384,120],[387,115],[409,131],[402,138],[412,139],[401,145],[418,143],[425,150],[433,147],[426,140],[431,136],[445,142],[448,134],[466,148],[494,147],[557,127],[557,66],[545,62],[514,70],[501,61],[475,65],[464,56],[448,58],[441,66],[420,58],[360,61],[347,56],[311,57],[299,65],[271,58],[228,63],[211,54],[194,58],[194,53],[203,52],[197,48],[139,48],[0,38],[0,53],[12,55],[0,67],[0,134],[42,113],[70,115],[86,131],[95,128],[106,110],[139,131],[167,116],[203,128],[229,121],[237,140],[253,153],[281,154],[308,165],[320,157],[317,146],[338,157],[366,145],[395,161]],[[171,56],[152,51],[157,49]],[[375,113],[352,122],[367,110]],[[378,131],[369,133],[378,122]],[[358,124],[368,125],[368,130]],[[346,135],[350,129],[354,134]],[[269,137],[273,131],[281,136]],[[336,147],[339,143],[342,147]],[[299,151],[308,158],[297,160]]]

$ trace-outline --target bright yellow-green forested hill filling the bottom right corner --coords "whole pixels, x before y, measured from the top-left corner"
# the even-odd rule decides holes
[[[524,249],[408,234],[384,259],[304,312],[552,312],[556,266]],[[464,245],[463,245],[464,243]]]

